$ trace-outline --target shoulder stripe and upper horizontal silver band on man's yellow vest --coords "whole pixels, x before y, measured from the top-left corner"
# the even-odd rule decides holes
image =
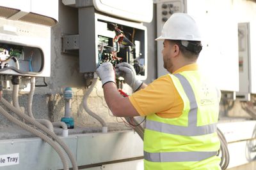
[[[200,136],[216,132],[216,124],[196,126],[197,124],[197,104],[195,94],[189,81],[181,74],[173,74],[177,78],[188,96],[190,110],[188,113],[188,126],[170,125],[154,120],[146,121],[146,128],[152,131],[164,132],[168,134],[177,134],[182,136]]]

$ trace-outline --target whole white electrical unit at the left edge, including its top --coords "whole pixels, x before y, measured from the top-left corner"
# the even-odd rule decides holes
[[[48,4],[47,4],[48,2]],[[0,74],[50,76],[58,1],[0,1]]]

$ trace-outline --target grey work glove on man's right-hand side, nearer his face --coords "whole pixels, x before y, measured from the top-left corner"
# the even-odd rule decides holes
[[[124,82],[127,83],[134,92],[138,90],[143,83],[136,78],[136,71],[134,67],[127,62],[121,62],[116,65],[116,76],[122,76],[124,78]]]

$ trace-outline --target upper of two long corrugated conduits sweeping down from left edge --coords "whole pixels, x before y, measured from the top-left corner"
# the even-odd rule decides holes
[[[49,134],[49,136],[51,136],[52,139],[54,139],[57,143],[59,143],[60,146],[65,150],[65,152],[67,153],[69,159],[71,160],[71,163],[72,163],[72,166],[73,166],[73,170],[77,170],[78,169],[77,162],[76,162],[75,157],[73,156],[73,153],[70,151],[68,146],[56,134],[54,134],[54,132],[50,131],[49,129],[47,129],[47,127],[45,127],[44,125],[40,124],[39,122],[36,122],[33,118],[29,117],[28,115],[22,113],[22,111],[18,110],[14,106],[12,106],[12,104],[10,104],[8,101],[6,101],[6,99],[4,99],[3,97],[0,98],[0,102],[3,103],[4,106],[6,106],[8,109],[13,111],[17,115],[19,115],[19,117],[24,118],[24,120],[26,120],[30,124],[35,125],[39,129],[44,131],[46,134]]]

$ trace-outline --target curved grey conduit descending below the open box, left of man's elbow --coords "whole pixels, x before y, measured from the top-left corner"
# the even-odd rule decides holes
[[[97,80],[98,80],[97,78],[93,78],[92,85],[90,85],[88,90],[86,90],[84,97],[83,97],[83,106],[84,106],[84,110],[90,116],[92,116],[93,118],[95,118],[96,120],[98,120],[100,122],[100,124],[102,125],[102,132],[106,133],[106,132],[108,132],[108,126],[107,126],[106,122],[104,122],[104,120],[101,117],[99,117],[96,113],[94,113],[92,110],[90,110],[90,108],[88,108],[88,105],[87,105],[88,97],[92,93],[92,90],[95,87]]]

